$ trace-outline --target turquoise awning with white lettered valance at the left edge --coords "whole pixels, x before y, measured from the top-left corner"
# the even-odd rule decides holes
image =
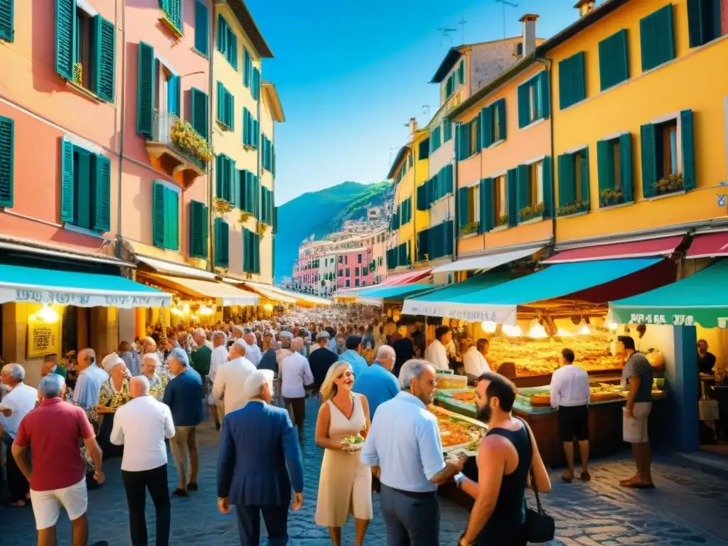
[[[124,277],[0,264],[0,303],[167,307],[172,294]]]

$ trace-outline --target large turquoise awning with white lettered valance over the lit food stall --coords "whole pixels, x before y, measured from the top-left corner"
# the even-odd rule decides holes
[[[661,259],[633,258],[558,264],[507,282],[497,282],[497,277],[488,274],[480,275],[420,298],[407,300],[403,312],[515,324],[518,306],[561,298],[604,285],[657,264]],[[485,278],[476,280],[479,277]]]

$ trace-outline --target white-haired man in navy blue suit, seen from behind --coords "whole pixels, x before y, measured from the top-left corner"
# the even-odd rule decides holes
[[[271,546],[288,544],[288,507],[304,504],[304,464],[288,411],[270,405],[273,374],[245,381],[248,403],[225,416],[218,454],[218,508],[235,505],[241,546],[258,546],[261,513]],[[290,475],[290,478],[289,478]]]

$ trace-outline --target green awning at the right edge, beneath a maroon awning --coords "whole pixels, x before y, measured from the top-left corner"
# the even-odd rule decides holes
[[[728,328],[728,260],[718,261],[683,280],[609,302],[617,323],[671,324]]]

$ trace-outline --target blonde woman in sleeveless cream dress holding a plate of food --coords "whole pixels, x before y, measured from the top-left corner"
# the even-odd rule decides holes
[[[323,403],[316,420],[316,445],[325,448],[316,523],[328,527],[333,546],[341,546],[341,527],[349,514],[356,519],[355,544],[361,546],[372,515],[371,467],[362,464],[358,450],[341,444],[347,436],[365,436],[371,427],[369,404],[364,395],[352,392],[353,384],[349,363],[333,364],[321,385]]]

